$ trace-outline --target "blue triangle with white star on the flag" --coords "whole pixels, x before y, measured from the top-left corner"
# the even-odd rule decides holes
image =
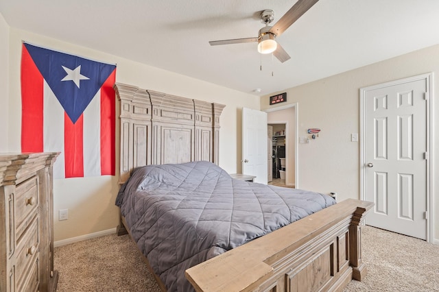
[[[95,62],[27,43],[24,45],[73,123],[78,121],[99,88],[116,69],[115,65]],[[71,73],[71,71],[75,72]]]

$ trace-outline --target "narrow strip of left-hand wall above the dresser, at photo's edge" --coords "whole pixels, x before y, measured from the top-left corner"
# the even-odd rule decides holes
[[[0,152],[8,151],[9,25],[0,14]]]

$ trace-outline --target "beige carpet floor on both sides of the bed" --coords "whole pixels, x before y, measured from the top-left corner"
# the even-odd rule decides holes
[[[439,245],[366,226],[368,275],[346,291],[439,291]],[[127,235],[55,248],[58,291],[160,291]]]

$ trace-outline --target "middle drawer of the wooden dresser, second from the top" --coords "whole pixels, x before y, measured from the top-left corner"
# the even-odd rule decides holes
[[[32,277],[32,274],[29,273],[29,271],[35,268],[34,265],[36,263],[38,265],[38,249],[40,246],[38,224],[39,218],[38,215],[36,215],[29,224],[29,228],[25,230],[23,236],[21,236],[16,245],[15,278],[17,283],[20,283],[21,285],[29,281],[29,277]],[[39,280],[38,277],[36,280]],[[25,290],[19,289],[19,291]]]

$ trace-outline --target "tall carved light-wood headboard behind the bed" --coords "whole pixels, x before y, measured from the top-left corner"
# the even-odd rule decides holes
[[[120,101],[119,183],[144,165],[207,160],[218,164],[223,104],[116,83]]]

